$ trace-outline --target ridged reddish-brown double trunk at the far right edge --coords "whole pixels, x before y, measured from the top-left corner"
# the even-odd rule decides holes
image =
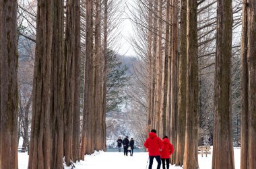
[[[256,166],[256,1],[243,1],[241,169]]]

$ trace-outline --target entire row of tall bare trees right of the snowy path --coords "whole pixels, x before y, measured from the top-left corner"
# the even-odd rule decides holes
[[[214,143],[212,167],[234,168],[232,148],[232,121],[234,121],[232,117],[234,115],[232,116],[232,111],[239,113],[239,109],[236,110],[236,107],[239,107],[236,102],[239,100],[235,99],[237,95],[240,95],[238,92],[240,82],[233,72],[239,70],[239,64],[232,64],[232,60],[236,60],[237,53],[240,51],[240,42],[236,42],[236,31],[239,32],[237,27],[241,27],[241,17],[239,17],[241,5],[237,2],[232,5],[232,1],[186,0],[145,0],[137,1],[137,4],[137,10],[132,12],[131,18],[135,24],[139,23],[137,24],[139,25],[138,40],[135,40],[134,44],[138,49],[137,53],[141,57],[141,61],[147,66],[148,72],[146,83],[144,83],[148,89],[148,127],[146,130],[155,128],[159,131],[160,137],[170,136],[170,142],[174,144],[175,148],[175,153],[171,158],[172,164],[183,165],[183,168],[198,168],[199,137],[203,133],[205,134],[203,130],[207,130],[209,131],[207,139],[212,138]],[[253,35],[251,32],[249,34],[247,30],[249,25],[245,24],[253,24],[254,20],[246,12],[255,8],[255,2],[245,1],[243,5],[243,19],[246,20],[243,21],[243,39],[248,43],[249,37]],[[212,15],[212,10],[217,13]],[[247,21],[248,18],[251,20]],[[250,26],[250,31],[255,30],[252,25]],[[233,32],[234,34],[232,34]],[[147,36],[148,39],[141,40],[141,34],[144,37]],[[143,43],[147,45],[143,46],[141,52]],[[242,46],[242,51],[243,48],[247,52],[249,44]],[[250,53],[244,57],[246,64],[243,68],[243,78],[249,71],[246,66],[247,60],[250,58],[250,62],[253,62],[251,57],[254,56]],[[231,59],[233,57],[234,59]],[[213,66],[215,66],[215,70],[211,68]],[[212,73],[214,73],[214,77],[209,78],[212,77],[209,76]],[[211,79],[212,84],[209,86],[214,90],[212,93],[209,90],[207,94],[207,89],[202,89],[202,87],[205,87],[205,80]],[[243,79],[242,91],[244,92],[248,92],[249,80],[246,79]],[[238,91],[234,91],[237,87]],[[204,90],[206,90],[204,92],[206,95],[213,97],[209,102],[212,105],[209,104],[206,107],[212,109],[210,114],[204,112],[208,110],[203,109],[205,101],[201,99],[205,97],[205,94],[202,93]],[[247,95],[244,98],[253,99]],[[243,107],[249,107],[245,99]],[[243,109],[248,111],[247,108]],[[241,136],[241,142],[244,144],[242,152],[248,153],[243,158],[249,160],[249,153],[251,153],[250,156],[255,156],[253,155],[255,153],[247,149],[245,145],[253,142],[253,138],[247,134],[250,131],[253,132],[251,126],[254,123],[253,121],[249,122],[248,119],[243,120],[247,118],[245,115],[246,113],[242,112],[242,121],[245,122],[242,125],[241,132],[244,135]],[[239,118],[239,115],[235,117]],[[211,118],[214,123],[211,124],[212,127],[209,127]],[[238,120],[235,119],[235,121],[235,126],[238,126]],[[208,126],[201,128],[205,123]],[[236,131],[238,132],[238,127]],[[199,137],[198,134],[200,134]],[[240,142],[239,138],[235,140]],[[225,150],[228,150],[225,153],[222,151],[224,145],[226,146]]]

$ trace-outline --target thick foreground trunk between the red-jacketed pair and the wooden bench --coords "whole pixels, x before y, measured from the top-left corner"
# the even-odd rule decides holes
[[[198,168],[197,1],[187,0],[187,106],[183,168]]]

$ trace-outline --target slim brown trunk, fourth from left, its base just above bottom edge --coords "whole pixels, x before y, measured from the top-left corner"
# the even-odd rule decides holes
[[[73,127],[73,99],[74,99],[74,80],[75,80],[75,9],[74,1],[67,0],[66,3],[66,26],[65,26],[65,162],[70,166],[72,127]]]

